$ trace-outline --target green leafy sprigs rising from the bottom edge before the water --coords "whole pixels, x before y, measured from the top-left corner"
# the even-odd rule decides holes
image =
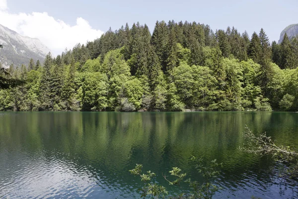
[[[130,170],[130,172],[133,175],[140,176],[141,181],[145,183],[144,187],[139,189],[141,198],[211,199],[220,189],[217,185],[211,183],[211,179],[216,178],[220,173],[218,168],[222,166],[222,163],[218,163],[215,159],[211,161],[210,164],[206,165],[203,159],[198,159],[195,156],[192,156],[191,160],[195,163],[198,173],[204,177],[204,183],[201,184],[198,181],[192,181],[190,178],[185,180],[187,174],[183,173],[181,169],[173,167],[169,173],[171,176],[175,177],[175,180],[170,181],[165,175],[163,177],[169,185],[178,186],[181,189],[181,192],[177,196],[167,196],[168,192],[163,186],[152,182],[155,173],[148,171],[147,174],[142,174],[143,165],[137,164],[135,169]],[[190,191],[182,190],[180,184],[183,182],[189,185]]]

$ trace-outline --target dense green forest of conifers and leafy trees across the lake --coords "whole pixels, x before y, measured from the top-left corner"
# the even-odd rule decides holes
[[[7,69],[1,111],[298,111],[298,37],[157,21]],[[6,74],[7,75],[7,74]],[[2,74],[4,76],[4,74]]]

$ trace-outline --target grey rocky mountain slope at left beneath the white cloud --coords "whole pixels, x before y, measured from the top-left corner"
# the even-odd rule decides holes
[[[2,66],[8,67],[10,64],[20,66],[27,65],[33,58],[35,61],[43,62],[50,49],[39,39],[22,36],[17,32],[0,24],[0,62]]]

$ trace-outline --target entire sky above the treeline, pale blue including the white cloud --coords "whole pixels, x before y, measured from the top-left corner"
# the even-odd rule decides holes
[[[264,28],[271,41],[298,23],[298,0],[0,0],[0,24],[39,38],[54,55],[99,38],[111,27],[156,20],[196,21],[215,31],[234,26],[251,35]]]

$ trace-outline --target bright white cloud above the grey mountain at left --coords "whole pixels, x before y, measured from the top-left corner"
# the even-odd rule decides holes
[[[49,16],[47,12],[10,13],[6,0],[0,0],[0,24],[23,36],[40,39],[55,55],[65,48],[72,49],[77,43],[85,44],[103,34],[81,17],[77,17],[76,25],[71,26]]]

